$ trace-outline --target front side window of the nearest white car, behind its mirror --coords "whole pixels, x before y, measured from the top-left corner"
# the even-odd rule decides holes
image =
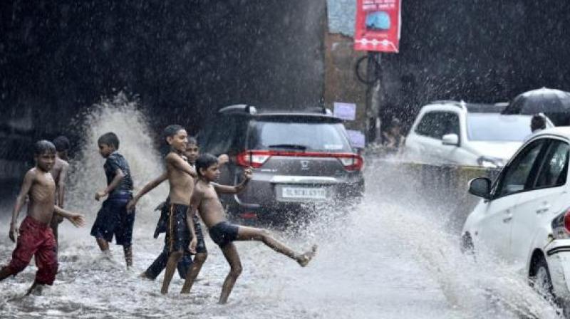
[[[532,168],[537,162],[537,157],[544,145],[544,139],[536,140],[520,152],[505,169],[502,180],[499,183],[496,197],[504,197],[509,194],[522,192],[529,189],[527,180],[532,172]]]

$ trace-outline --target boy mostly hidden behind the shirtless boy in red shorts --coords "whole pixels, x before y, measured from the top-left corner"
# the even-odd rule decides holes
[[[56,206],[63,209],[63,200],[66,194],[66,177],[69,169],[67,162],[69,140],[65,136],[58,136],[53,140],[53,145],[56,146],[56,163],[53,164],[53,168],[51,169],[51,176],[56,182]],[[58,225],[61,224],[62,221],[62,216],[53,214],[50,226],[53,231],[53,237],[56,239],[56,244],[58,243]]]

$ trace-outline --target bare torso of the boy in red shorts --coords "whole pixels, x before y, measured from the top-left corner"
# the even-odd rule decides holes
[[[24,177],[22,188],[29,189],[28,216],[43,224],[48,224],[53,215],[56,200],[56,182],[50,172],[41,172],[34,167]]]

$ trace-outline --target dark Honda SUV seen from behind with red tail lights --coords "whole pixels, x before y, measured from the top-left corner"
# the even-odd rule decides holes
[[[198,140],[202,152],[229,155],[220,184],[235,184],[245,167],[254,169],[242,194],[221,197],[230,214],[263,218],[304,211],[314,204],[352,202],[364,189],[363,159],[330,110],[258,112],[232,105],[219,110]]]

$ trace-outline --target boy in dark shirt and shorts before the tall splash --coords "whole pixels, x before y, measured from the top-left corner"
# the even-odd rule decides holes
[[[106,256],[110,257],[109,243],[113,241],[123,246],[127,268],[133,266],[133,224],[135,214],[128,214],[127,203],[133,198],[133,178],[127,160],[120,155],[119,138],[115,133],[108,132],[99,137],[99,154],[104,157],[107,187],[95,193],[95,200],[108,198],[97,213],[91,236]]]

